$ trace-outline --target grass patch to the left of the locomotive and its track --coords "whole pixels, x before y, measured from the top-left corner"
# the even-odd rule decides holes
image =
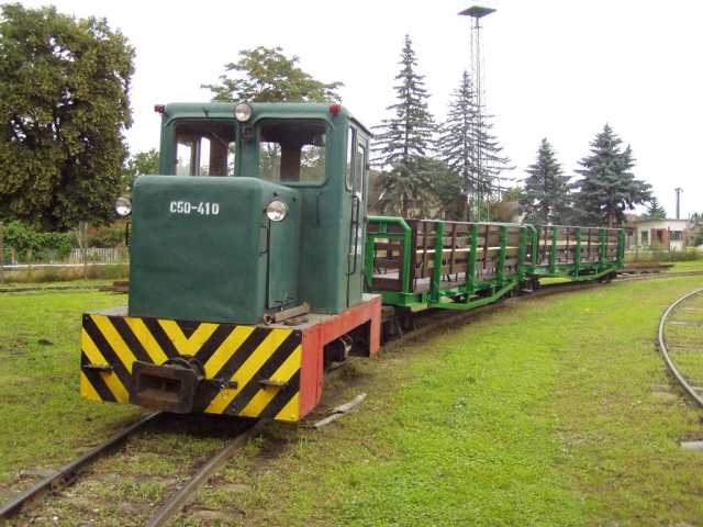
[[[0,483],[68,461],[141,413],[78,394],[81,314],[124,302],[98,292],[0,296]]]

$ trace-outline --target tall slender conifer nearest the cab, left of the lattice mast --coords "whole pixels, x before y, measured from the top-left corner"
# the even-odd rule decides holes
[[[435,131],[434,120],[427,110],[427,90],[424,76],[415,72],[417,60],[410,35],[401,54],[401,70],[393,87],[398,102],[386,110],[390,119],[375,126],[373,164],[386,171],[381,178],[383,210],[400,212],[403,217],[422,214],[432,195],[432,178],[428,154]]]

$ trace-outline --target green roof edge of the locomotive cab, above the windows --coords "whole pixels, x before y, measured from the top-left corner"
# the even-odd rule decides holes
[[[331,104],[324,102],[252,102],[253,117],[294,117],[301,119],[325,119],[330,120],[332,113]],[[165,114],[169,119],[182,117],[214,117],[231,119],[234,116],[234,106],[236,102],[172,102],[166,104]],[[367,134],[371,132],[364,126],[352,113],[343,105],[339,105],[339,114],[346,115],[348,119],[359,125]]]

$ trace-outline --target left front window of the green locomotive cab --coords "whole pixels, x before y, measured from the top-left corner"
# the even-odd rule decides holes
[[[235,123],[188,120],[176,124],[178,176],[234,176]]]

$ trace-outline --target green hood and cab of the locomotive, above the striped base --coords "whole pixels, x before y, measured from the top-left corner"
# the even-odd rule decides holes
[[[130,314],[258,323],[361,301],[368,132],[338,105],[248,108],[165,108],[163,176],[134,188]]]

